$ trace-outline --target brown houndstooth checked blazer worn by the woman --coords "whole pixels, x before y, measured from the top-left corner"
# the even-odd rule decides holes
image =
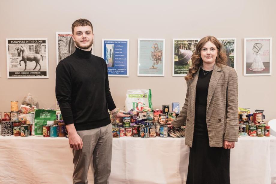
[[[186,121],[185,144],[190,147],[193,145],[198,75],[199,70],[187,81],[185,103],[172,122],[174,127],[180,127]],[[223,140],[238,141],[238,78],[235,69],[229,66],[214,66],[208,88],[206,123],[210,147],[222,147]]]

